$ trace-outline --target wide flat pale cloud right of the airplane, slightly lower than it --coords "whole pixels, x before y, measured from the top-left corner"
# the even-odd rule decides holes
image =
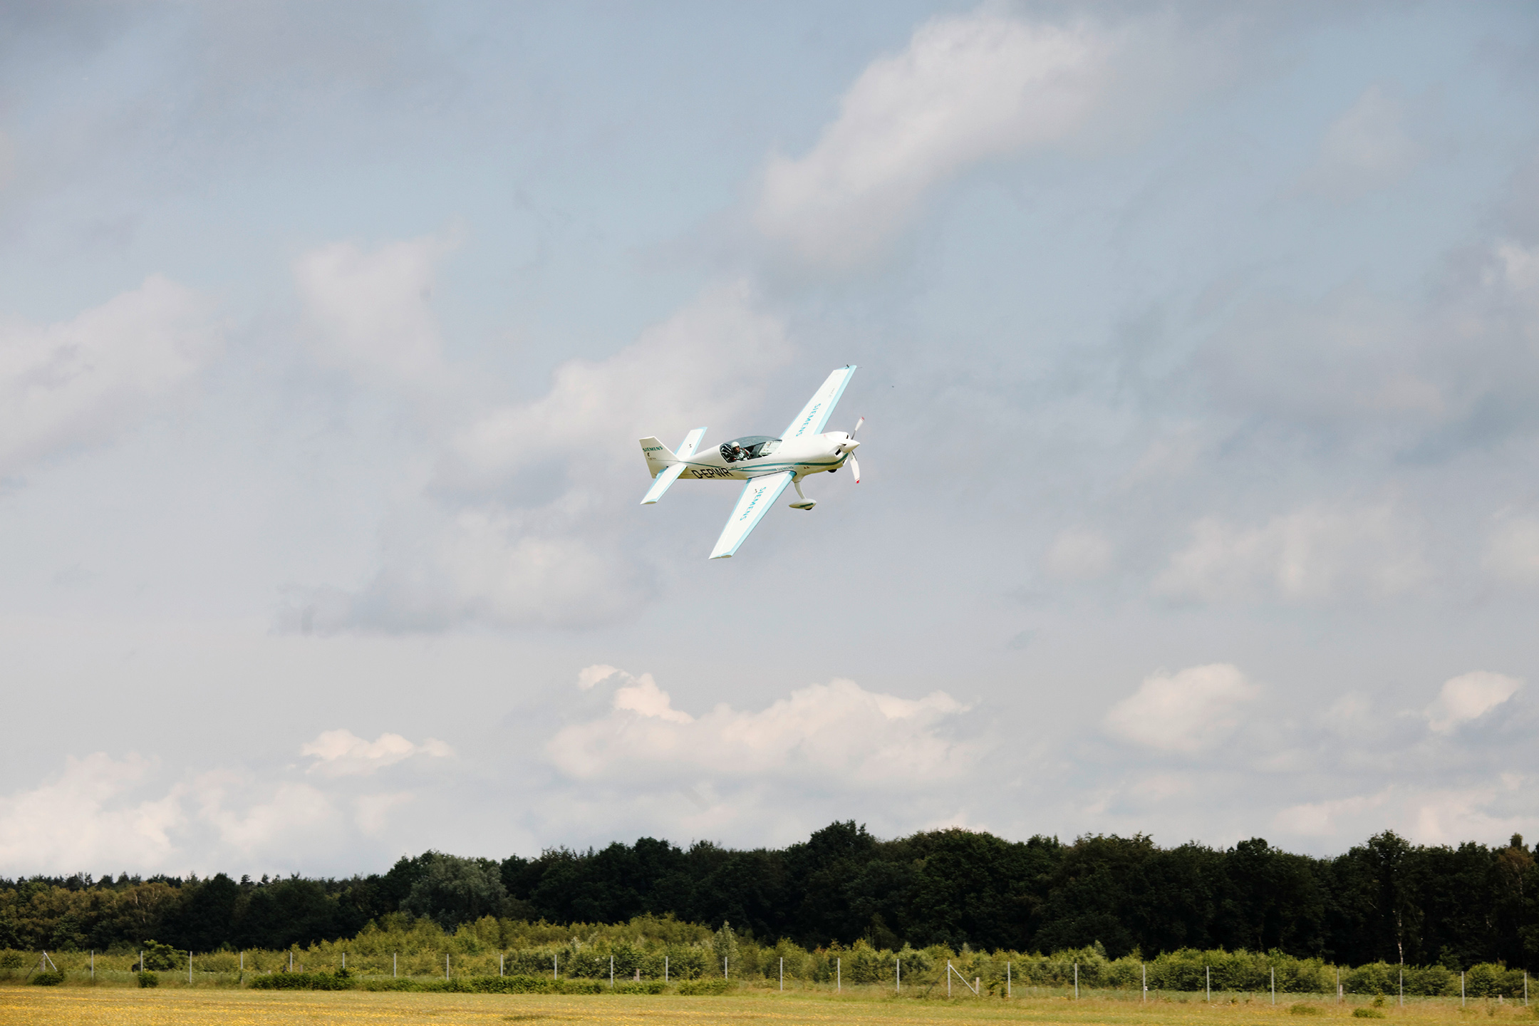
[[[1259,528],[1208,517],[1191,534],[1191,543],[1154,580],[1156,592],[1200,601],[1384,597],[1430,574],[1420,532],[1391,506],[1307,506]]]

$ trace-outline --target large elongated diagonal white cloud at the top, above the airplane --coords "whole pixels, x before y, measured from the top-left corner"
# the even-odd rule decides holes
[[[860,263],[936,183],[1080,128],[1114,49],[1090,26],[991,8],[934,18],[860,74],[806,155],[771,158],[754,225],[811,265]]]

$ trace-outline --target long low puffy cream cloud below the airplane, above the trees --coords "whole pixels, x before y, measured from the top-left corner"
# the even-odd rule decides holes
[[[831,775],[843,786],[891,788],[954,780],[977,755],[948,737],[966,708],[942,691],[899,698],[834,680],[765,709],[723,703],[694,717],[674,709],[649,674],[617,677],[623,686],[608,715],[566,726],[546,745],[568,777],[677,789],[700,775],[749,783]]]

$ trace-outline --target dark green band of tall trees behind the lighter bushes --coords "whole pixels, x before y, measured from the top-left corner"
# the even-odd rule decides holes
[[[1539,869],[1504,848],[1384,832],[1316,858],[1253,838],[1160,848],[1145,835],[1008,841],[926,831],[879,840],[833,823],[782,849],[640,838],[534,858],[402,857],[345,880],[89,875],[0,880],[0,948],[282,949],[354,937],[389,914],[452,929],[483,917],[626,923],[676,917],[806,949],[945,944],[1116,960],[1276,951],[1339,964],[1539,968]]]

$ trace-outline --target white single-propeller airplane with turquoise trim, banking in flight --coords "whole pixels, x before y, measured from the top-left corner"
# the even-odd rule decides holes
[[[823,388],[806,401],[802,412],[796,415],[791,426],[779,438],[770,435],[743,435],[723,441],[709,452],[697,452],[700,440],[705,438],[705,428],[696,428],[685,435],[679,451],[673,452],[657,438],[642,438],[642,455],[646,457],[646,469],[653,474],[653,486],[642,498],[643,506],[649,506],[663,497],[663,492],[680,477],[697,481],[731,480],[748,481],[743,494],[737,497],[737,508],[722,528],[722,537],[711,549],[713,560],[731,558],[743,538],[759,526],[765,511],[774,505],[786,485],[796,486],[797,501],[791,509],[811,509],[816,498],[802,494],[802,478],[808,474],[833,474],[845,463],[860,483],[860,465],[856,463],[854,451],[860,445],[856,441],[856,431],[865,423],[865,417],[856,421],[854,431],[830,431],[823,434],[828,414],[834,412],[834,403],[843,395],[845,386],[854,375],[856,368],[839,368],[828,375]]]

